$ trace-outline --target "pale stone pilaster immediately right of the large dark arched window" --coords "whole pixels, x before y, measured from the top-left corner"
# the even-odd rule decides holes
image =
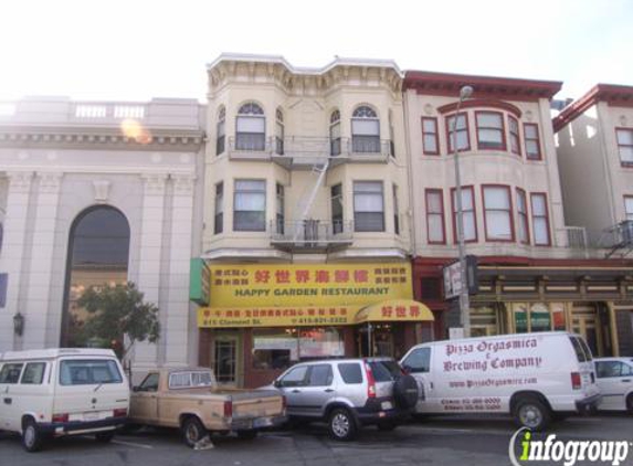
[[[165,188],[167,173],[144,174],[143,212],[140,221],[139,265],[136,285],[145,300],[159,304],[160,256],[162,253],[162,223],[165,216]],[[160,309],[163,311],[163,309]],[[144,371],[156,367],[156,345],[137,342],[133,368]]]

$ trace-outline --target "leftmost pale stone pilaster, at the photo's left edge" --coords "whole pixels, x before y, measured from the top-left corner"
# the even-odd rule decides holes
[[[24,251],[27,248],[27,222],[29,220],[29,202],[33,172],[9,171],[9,195],[7,198],[7,214],[4,215],[4,239],[0,255],[0,272],[9,275],[7,286],[7,305],[0,309],[0,352],[18,350],[22,347],[22,338],[13,335],[13,316],[25,309],[20,301],[22,286],[22,269],[24,267]],[[27,321],[24,332],[29,332]]]

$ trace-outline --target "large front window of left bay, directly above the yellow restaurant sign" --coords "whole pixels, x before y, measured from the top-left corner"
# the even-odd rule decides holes
[[[235,180],[233,231],[266,231],[266,182]]]

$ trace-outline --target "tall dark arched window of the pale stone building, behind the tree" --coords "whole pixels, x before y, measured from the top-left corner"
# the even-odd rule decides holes
[[[86,341],[82,328],[87,314],[78,307],[77,299],[91,286],[125,284],[128,261],[129,224],[123,213],[99,205],[77,215],[68,236],[62,348],[112,346],[112,341]]]

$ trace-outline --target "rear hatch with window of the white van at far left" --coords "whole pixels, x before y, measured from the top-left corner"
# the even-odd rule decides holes
[[[129,388],[115,358],[63,358],[57,368],[53,421],[94,422],[127,416]]]

